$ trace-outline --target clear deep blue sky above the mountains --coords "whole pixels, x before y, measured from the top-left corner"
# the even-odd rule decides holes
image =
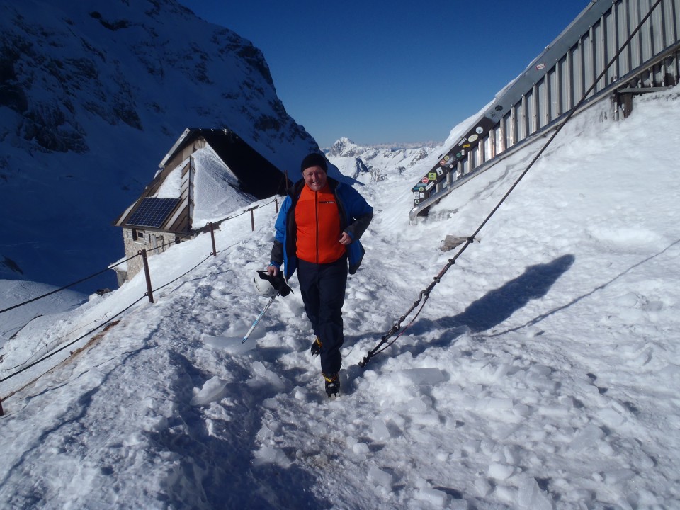
[[[589,0],[179,0],[263,52],[286,111],[321,147],[442,142]]]

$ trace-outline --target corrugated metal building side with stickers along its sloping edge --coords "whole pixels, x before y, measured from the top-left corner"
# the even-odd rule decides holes
[[[618,89],[653,91],[679,81],[680,0],[591,1],[416,183],[410,220],[560,125],[591,84],[583,108],[612,94],[618,101]]]

